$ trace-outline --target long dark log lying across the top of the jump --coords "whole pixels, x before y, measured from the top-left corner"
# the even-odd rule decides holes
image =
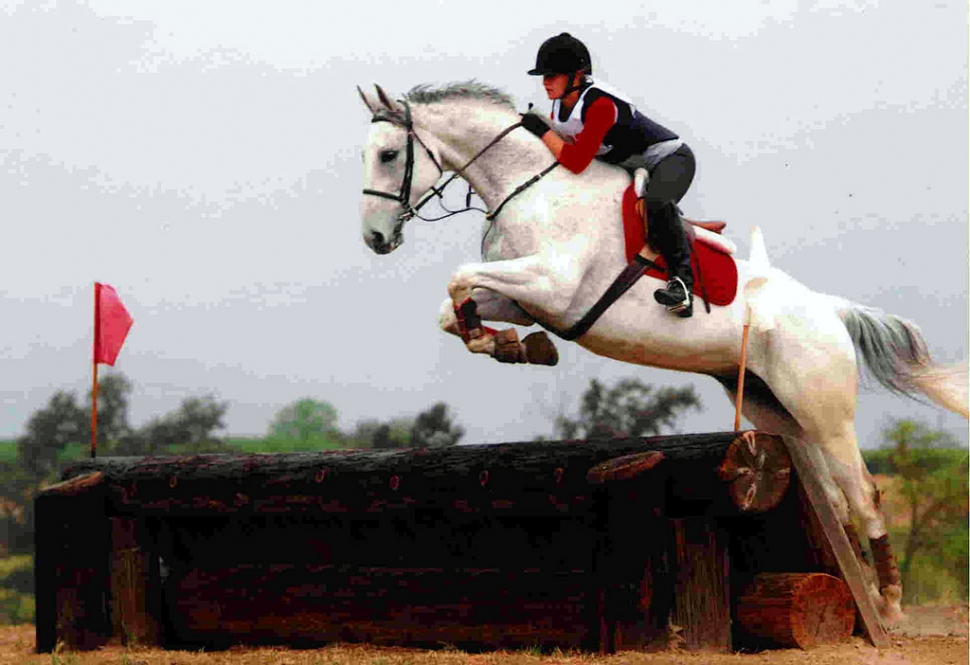
[[[98,458],[75,463],[63,477],[103,473],[113,514],[133,517],[406,513],[420,507],[584,515],[591,510],[591,468],[651,453],[649,459],[662,456],[661,478],[677,476],[670,488],[680,514],[689,516],[739,511],[718,475],[736,439],[735,432],[724,432],[440,449]],[[759,509],[767,505],[757,496]]]

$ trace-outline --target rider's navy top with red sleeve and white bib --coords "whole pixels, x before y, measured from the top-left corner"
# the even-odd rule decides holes
[[[555,100],[550,120],[557,133],[572,140],[563,146],[559,162],[573,173],[581,173],[594,158],[619,164],[654,144],[678,139],[637,111],[622,93],[592,81],[568,112],[562,100]]]

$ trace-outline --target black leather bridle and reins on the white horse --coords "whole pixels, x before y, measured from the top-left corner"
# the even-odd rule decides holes
[[[418,219],[422,219],[426,222],[436,222],[438,220],[442,220],[462,212],[467,212],[469,210],[477,210],[479,212],[487,213],[488,212],[487,210],[482,210],[481,208],[475,208],[471,206],[472,189],[470,184],[468,185],[468,195],[465,197],[465,208],[463,208],[462,210],[448,210],[447,208],[445,208],[445,211],[447,212],[447,214],[442,215],[441,217],[433,217],[433,218],[422,217],[420,214],[418,214],[418,211],[421,210],[421,208],[423,208],[424,205],[428,203],[428,201],[430,201],[435,196],[441,199],[442,207],[444,208],[445,188],[448,185],[450,185],[456,178],[462,177],[465,174],[465,170],[469,166],[471,166],[471,164],[476,159],[481,157],[489,148],[491,148],[496,143],[498,143],[503,138],[505,138],[512,130],[518,127],[521,127],[522,123],[517,122],[511,127],[507,127],[503,129],[498,136],[496,136],[494,139],[489,141],[488,145],[486,145],[484,148],[479,150],[474,157],[472,157],[467,162],[465,162],[465,165],[462,166],[460,169],[457,169],[451,175],[451,177],[448,178],[442,185],[438,187],[432,185],[428,193],[425,194],[420,201],[418,201],[415,205],[412,206],[411,205],[411,181],[414,178],[414,142],[417,141],[418,143],[421,144],[421,147],[424,148],[424,151],[428,154],[428,157],[431,158],[431,162],[438,169],[439,177],[444,175],[444,169],[442,168],[441,164],[438,162],[438,159],[434,156],[434,153],[431,151],[431,149],[428,148],[427,144],[425,144],[425,142],[421,140],[421,137],[418,136],[417,132],[414,131],[414,123],[411,121],[411,107],[408,105],[407,101],[403,99],[398,101],[401,104],[402,108],[404,109],[403,112],[392,111],[390,109],[387,109],[387,110],[378,109],[377,111],[374,111],[374,115],[371,118],[371,123],[389,122],[393,125],[403,127],[404,130],[407,132],[407,145],[404,149],[405,150],[404,178],[401,181],[401,187],[396,194],[392,194],[390,192],[382,192],[377,189],[364,189],[363,190],[364,194],[369,194],[370,196],[379,196],[381,198],[390,199],[392,201],[397,201],[398,203],[400,203],[401,206],[404,208],[404,211],[397,217],[398,224],[403,224],[404,222],[410,220],[413,217],[417,217]],[[555,164],[558,164],[558,162],[555,162]],[[548,170],[551,170],[551,167]],[[548,172],[548,170],[546,172]],[[543,175],[545,175],[546,172],[543,172]],[[532,184],[532,183],[530,182],[529,184]],[[518,194],[521,191],[521,189],[522,188],[517,189],[510,196],[506,197],[506,200],[502,201],[502,203],[498,206],[498,208],[496,208],[495,212],[491,213],[489,217],[494,218],[495,215],[498,214],[498,211],[501,210],[502,207],[505,205],[505,203],[508,201],[508,199]]]

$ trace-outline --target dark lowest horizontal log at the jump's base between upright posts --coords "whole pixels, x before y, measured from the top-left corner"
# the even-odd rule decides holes
[[[173,645],[579,648],[588,571],[258,565],[171,570]]]

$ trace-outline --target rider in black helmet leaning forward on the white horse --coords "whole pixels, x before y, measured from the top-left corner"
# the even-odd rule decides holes
[[[581,173],[595,157],[631,173],[645,168],[650,174],[643,197],[647,242],[663,255],[669,279],[654,298],[678,316],[691,316],[690,243],[677,203],[694,179],[694,153],[676,134],[640,113],[623,93],[594,82],[589,50],[568,32],[542,43],[535,69],[528,73],[542,76],[546,96],[553,100],[550,121],[556,131],[529,113],[522,125],[563,166]]]

